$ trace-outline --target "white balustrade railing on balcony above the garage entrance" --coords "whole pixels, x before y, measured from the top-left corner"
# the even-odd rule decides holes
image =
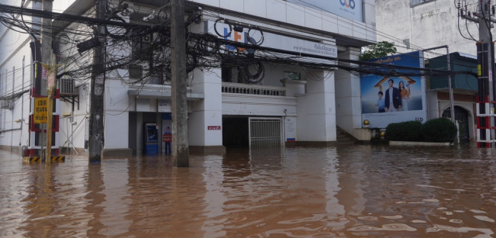
[[[282,87],[226,82],[222,83],[222,92],[266,96],[286,96],[286,89]]]

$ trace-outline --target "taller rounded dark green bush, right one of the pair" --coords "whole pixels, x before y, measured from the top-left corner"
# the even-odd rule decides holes
[[[447,118],[436,118],[422,125],[421,134],[427,142],[453,142],[457,126]]]

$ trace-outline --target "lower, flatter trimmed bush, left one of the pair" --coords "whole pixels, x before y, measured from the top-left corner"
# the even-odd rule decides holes
[[[391,123],[386,127],[386,138],[396,141],[421,141],[421,127],[422,123],[418,121]]]

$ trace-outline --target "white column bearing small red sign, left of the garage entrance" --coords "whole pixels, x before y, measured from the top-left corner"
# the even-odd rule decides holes
[[[221,70],[194,71],[191,88],[205,98],[192,103],[189,142],[192,150],[218,151],[222,149],[222,80]],[[208,129],[209,126],[220,126]]]

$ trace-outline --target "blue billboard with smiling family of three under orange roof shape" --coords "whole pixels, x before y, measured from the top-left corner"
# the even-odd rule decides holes
[[[388,56],[370,62],[424,68],[422,52]],[[403,121],[423,122],[427,118],[424,76],[407,76],[419,71],[394,70],[394,74],[388,74],[385,70],[384,75],[362,74],[360,77],[362,119],[369,120],[371,128],[385,128],[390,123]]]

